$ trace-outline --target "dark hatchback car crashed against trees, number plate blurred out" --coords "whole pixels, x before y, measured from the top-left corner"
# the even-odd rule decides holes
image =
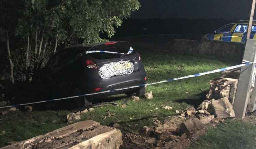
[[[38,80],[54,98],[76,96],[145,84],[140,55],[128,42],[102,42],[72,46],[57,52],[38,73]],[[126,93],[142,96],[144,87],[75,98],[76,106],[92,99]]]

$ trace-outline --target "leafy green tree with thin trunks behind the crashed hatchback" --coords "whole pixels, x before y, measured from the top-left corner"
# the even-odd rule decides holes
[[[20,0],[19,3],[20,13],[12,32],[25,43],[21,49],[26,51],[26,71],[30,67],[37,70],[38,63],[55,53],[60,44],[69,46],[78,40],[100,42],[105,40],[100,33],[113,36],[122,19],[140,7],[138,0]]]

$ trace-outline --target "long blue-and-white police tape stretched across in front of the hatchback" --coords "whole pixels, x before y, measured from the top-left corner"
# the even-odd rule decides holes
[[[226,70],[231,70],[231,69],[235,69],[235,68],[239,68],[239,67],[246,66],[246,65],[251,65],[251,64],[253,64],[253,62],[246,61],[246,63],[240,64],[240,65],[235,65],[235,66],[225,67],[225,68],[222,68],[222,69],[216,69],[216,70],[212,70],[212,71],[197,73],[197,74],[194,74],[194,75],[188,75],[188,76],[163,80],[163,81],[159,81],[159,82],[135,85],[135,86],[125,87],[125,88],[112,89],[112,90],[107,90],[107,91],[101,91],[101,92],[95,92],[95,93],[89,93],[89,94],[83,94],[83,95],[77,95],[77,96],[71,96],[71,97],[65,97],[65,98],[58,98],[58,99],[44,100],[44,101],[38,101],[38,102],[30,102],[30,103],[24,103],[24,104],[15,104],[15,105],[3,106],[3,107],[0,107],[0,109],[7,108],[7,107],[16,107],[16,106],[24,106],[24,105],[30,105],[30,104],[44,103],[44,102],[50,102],[50,101],[58,101],[58,100],[64,100],[64,99],[72,99],[72,98],[78,98],[78,97],[84,97],[84,96],[91,96],[91,95],[95,95],[95,94],[111,93],[111,92],[120,91],[120,90],[124,90],[124,89],[137,88],[137,87],[143,87],[143,86],[148,86],[148,85],[171,82],[171,81],[185,79],[185,78],[203,76],[203,75],[217,73],[217,72],[226,71]]]

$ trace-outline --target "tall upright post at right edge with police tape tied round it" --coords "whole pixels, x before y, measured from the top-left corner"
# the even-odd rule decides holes
[[[246,40],[244,56],[243,56],[243,60],[250,61],[250,62],[256,61],[256,40],[250,39],[255,3],[256,3],[256,0],[253,0],[250,21],[247,27],[248,29],[247,40]],[[247,105],[251,96],[252,77],[253,77],[254,69],[255,69],[255,64],[252,64],[249,66],[243,66],[241,67],[241,70],[240,70],[236,97],[233,105],[235,116],[238,118],[244,118],[247,110]]]

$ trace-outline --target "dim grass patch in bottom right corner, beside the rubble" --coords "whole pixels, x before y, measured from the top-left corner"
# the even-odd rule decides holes
[[[227,120],[210,128],[190,149],[255,149],[256,126],[244,120]]]

